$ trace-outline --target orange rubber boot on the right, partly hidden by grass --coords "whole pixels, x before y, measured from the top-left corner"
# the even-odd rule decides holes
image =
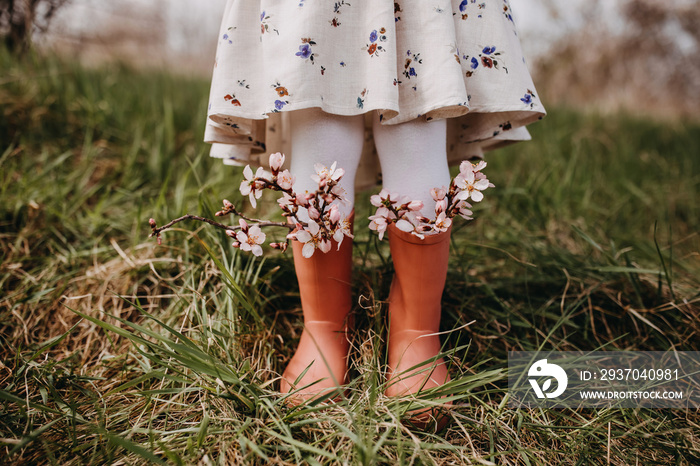
[[[386,395],[401,396],[438,387],[450,380],[442,358],[428,360],[437,356],[441,348],[440,302],[447,279],[451,229],[425,239],[401,231],[394,224],[388,232],[394,279],[389,293]],[[421,367],[411,369],[417,365]],[[410,421],[424,427],[433,414],[431,410],[414,412]]]

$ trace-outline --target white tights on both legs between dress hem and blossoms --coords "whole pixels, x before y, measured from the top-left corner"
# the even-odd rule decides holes
[[[354,181],[364,143],[364,116],[339,116],[317,108],[294,112],[292,118],[292,163],[297,191],[314,190],[310,176],[315,163],[328,167],[337,161],[345,170],[340,182],[352,209]],[[398,125],[382,125],[375,114],[374,142],[382,166],[384,188],[409,196],[425,205],[423,215],[435,218],[431,188],[447,186],[447,124],[445,120],[413,120]]]

